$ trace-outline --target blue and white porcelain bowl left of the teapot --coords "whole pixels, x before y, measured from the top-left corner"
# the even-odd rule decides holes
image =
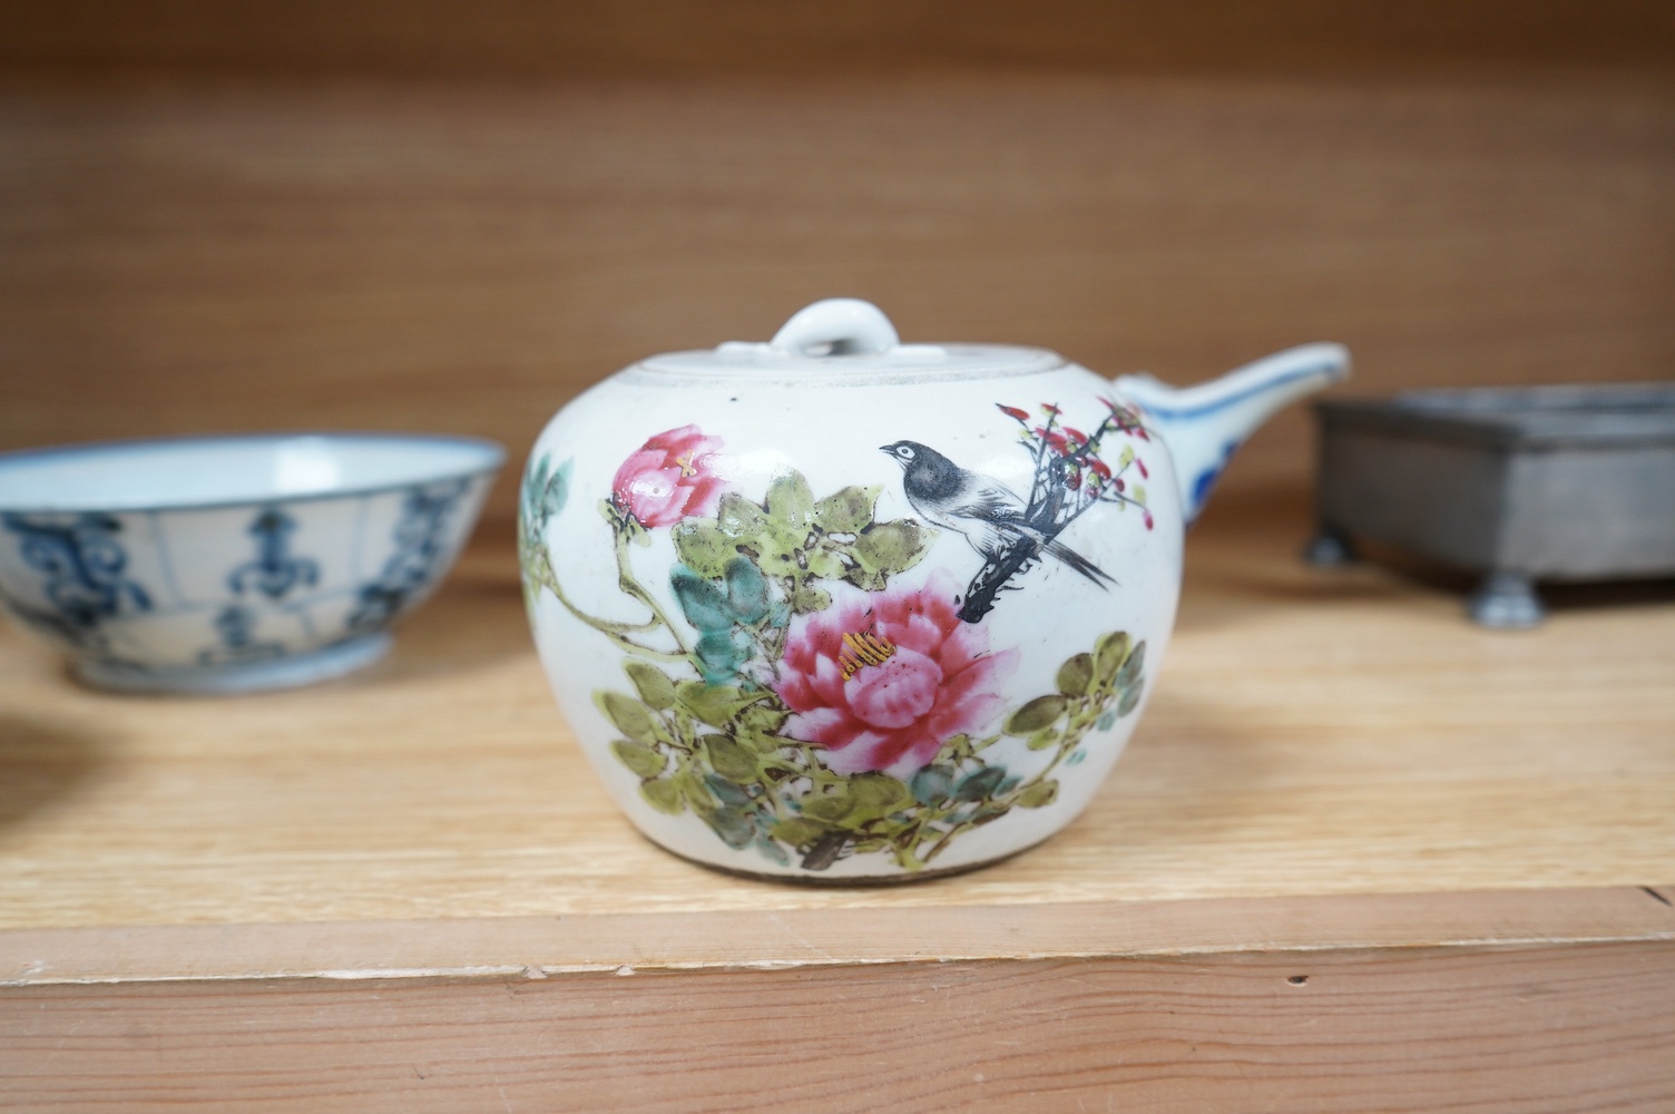
[[[504,456],[385,434],[0,454],[0,601],[100,689],[338,677],[442,581]]]

